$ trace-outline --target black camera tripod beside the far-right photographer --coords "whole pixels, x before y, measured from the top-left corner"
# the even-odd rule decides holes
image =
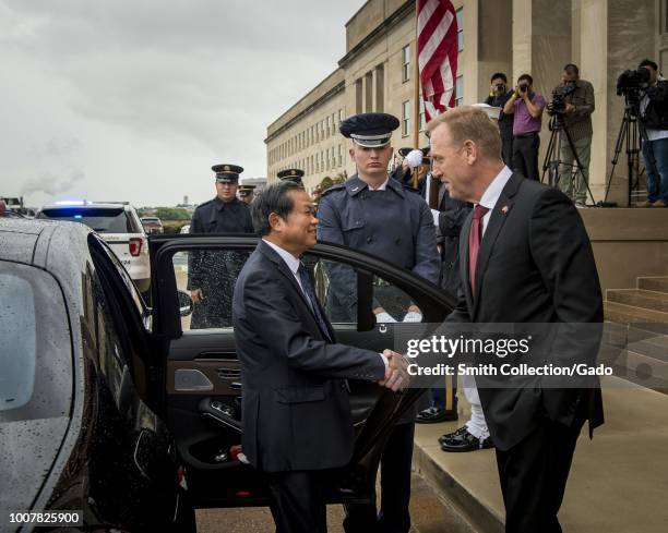
[[[615,143],[615,156],[612,157],[612,168],[610,169],[610,175],[608,177],[608,184],[606,185],[606,196],[603,205],[616,205],[608,203],[608,194],[610,193],[610,185],[612,184],[612,177],[615,175],[615,168],[619,161],[619,156],[622,150],[622,145],[625,146],[627,153],[627,166],[628,166],[628,202],[631,205],[631,196],[634,190],[640,189],[640,178],[642,175],[640,168],[640,144],[647,143],[651,163],[656,166],[654,159],[654,150],[647,138],[647,132],[642,121],[637,119],[640,114],[640,96],[635,98],[629,98],[629,95],[624,95],[624,116],[622,118],[619,133],[617,135],[617,142]],[[645,165],[646,166],[646,165]]]

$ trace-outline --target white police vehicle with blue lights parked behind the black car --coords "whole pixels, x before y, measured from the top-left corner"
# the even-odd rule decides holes
[[[128,202],[57,202],[44,206],[37,218],[81,222],[109,244],[141,292],[151,286],[146,233],[134,207]]]

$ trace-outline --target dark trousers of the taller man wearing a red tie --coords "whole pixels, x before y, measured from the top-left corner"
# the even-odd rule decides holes
[[[557,513],[581,427],[545,419],[510,450],[497,450],[506,533],[561,533]]]

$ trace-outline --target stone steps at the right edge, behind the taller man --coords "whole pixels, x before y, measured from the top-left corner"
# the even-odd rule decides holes
[[[600,361],[616,375],[668,393],[668,276],[640,277],[637,289],[608,289]]]

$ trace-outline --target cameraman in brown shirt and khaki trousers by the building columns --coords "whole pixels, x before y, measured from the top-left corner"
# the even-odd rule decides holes
[[[576,65],[569,63],[563,68],[561,84],[552,92],[554,99],[548,105],[550,113],[559,113],[563,120],[577,160],[582,165],[575,178],[575,191],[573,191],[572,170],[575,156],[565,137],[561,142],[559,159],[559,189],[570,198],[574,199],[577,207],[584,207],[587,199],[587,184],[589,183],[589,159],[592,156],[592,113],[594,112],[594,87],[589,82],[580,78],[580,70]]]

